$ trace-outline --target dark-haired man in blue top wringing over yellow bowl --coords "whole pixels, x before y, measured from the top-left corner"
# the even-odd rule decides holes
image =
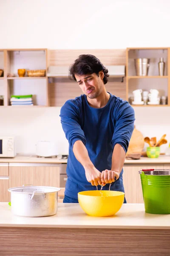
[[[106,91],[108,70],[94,55],[80,55],[69,71],[84,94],[65,102],[60,113],[69,142],[63,202],[78,203],[78,192],[101,185],[108,190],[109,183],[111,190],[124,192],[122,167],[134,129],[133,108]]]

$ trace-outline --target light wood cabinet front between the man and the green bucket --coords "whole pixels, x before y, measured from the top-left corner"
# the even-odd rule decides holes
[[[169,166],[170,167],[170,166]],[[142,169],[165,169],[163,166],[130,165],[124,166],[123,183],[128,204],[142,204],[142,184],[139,171]]]

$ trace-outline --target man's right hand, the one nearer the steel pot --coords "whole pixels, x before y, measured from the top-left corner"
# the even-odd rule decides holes
[[[91,183],[92,186],[98,186],[103,185],[105,186],[105,183],[102,183],[100,176],[101,172],[99,172],[94,165],[87,165],[84,166],[85,168],[85,177],[88,180],[88,182]]]

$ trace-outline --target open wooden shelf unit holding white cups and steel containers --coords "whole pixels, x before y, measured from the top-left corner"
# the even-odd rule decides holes
[[[163,57],[164,76],[159,76],[158,62]],[[135,58],[150,58],[148,76],[136,76]],[[140,107],[170,106],[170,48],[127,48],[126,49],[126,99],[133,96],[133,90],[159,90],[159,96],[167,96],[167,105],[132,105]]]

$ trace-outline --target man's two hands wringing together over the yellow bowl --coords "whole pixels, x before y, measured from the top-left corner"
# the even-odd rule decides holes
[[[106,183],[119,179],[119,171],[105,170],[101,173],[93,165],[88,165],[85,166],[85,176],[92,186],[105,186]]]

